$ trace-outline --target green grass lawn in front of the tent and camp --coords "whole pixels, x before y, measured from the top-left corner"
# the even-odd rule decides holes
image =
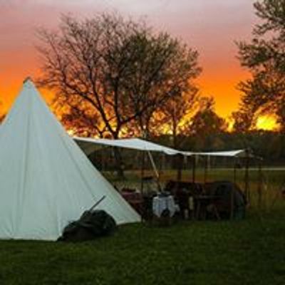
[[[0,242],[1,285],[281,285],[284,280],[285,200],[281,196],[274,207],[252,207],[247,219],[239,222],[132,224],[120,227],[112,237],[78,244]]]

